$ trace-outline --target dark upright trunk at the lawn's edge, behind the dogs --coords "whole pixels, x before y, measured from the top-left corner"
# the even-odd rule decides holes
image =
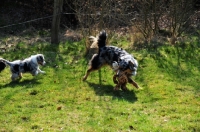
[[[54,0],[53,21],[51,28],[51,43],[59,44],[59,27],[62,13],[63,0]]]

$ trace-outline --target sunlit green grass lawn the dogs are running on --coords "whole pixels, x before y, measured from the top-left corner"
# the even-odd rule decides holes
[[[128,49],[128,43],[122,43]],[[59,46],[19,43],[18,50],[0,57],[15,60],[42,53],[47,64],[41,69],[46,74],[24,74],[11,82],[8,67],[0,73],[0,131],[198,132],[199,43],[129,48],[139,62],[133,79],[141,88],[128,84],[126,92],[113,91],[109,67],[82,81],[88,63],[84,41]]]

